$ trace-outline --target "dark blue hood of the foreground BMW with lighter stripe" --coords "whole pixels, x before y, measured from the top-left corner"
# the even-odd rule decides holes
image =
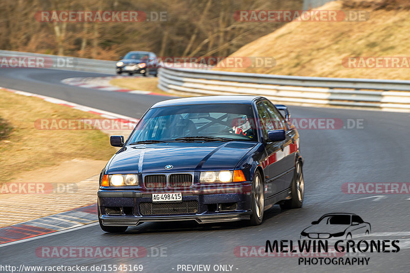
[[[254,142],[158,143],[128,146],[111,160],[108,173],[233,170]]]

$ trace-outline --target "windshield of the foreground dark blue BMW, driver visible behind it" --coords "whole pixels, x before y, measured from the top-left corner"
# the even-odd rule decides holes
[[[187,137],[256,141],[253,121],[252,106],[245,104],[193,104],[152,108],[139,122],[128,143],[148,140],[170,142]]]

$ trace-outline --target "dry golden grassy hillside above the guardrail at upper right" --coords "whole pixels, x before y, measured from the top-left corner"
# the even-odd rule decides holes
[[[274,57],[275,66],[216,70],[318,77],[410,79],[408,1],[345,0],[331,2],[318,9],[345,12],[360,10],[366,13],[367,19],[289,22],[271,34],[244,45],[231,55]],[[349,57],[359,58],[349,66]],[[376,59],[368,57],[387,58],[381,61],[379,58],[382,68],[370,68],[372,62],[368,62],[368,65],[366,62]],[[365,68],[352,68],[360,64]]]

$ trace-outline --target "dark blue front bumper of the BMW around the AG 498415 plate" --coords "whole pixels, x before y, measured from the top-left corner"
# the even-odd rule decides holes
[[[124,190],[98,191],[100,220],[103,225],[135,226],[141,222],[194,220],[197,223],[227,222],[250,219],[252,185],[206,191],[182,191],[182,202],[196,201],[194,213],[168,213],[147,215],[140,203],[152,203],[152,193]],[[222,192],[221,192],[222,191]],[[175,191],[174,191],[175,192]],[[163,191],[167,193],[167,191]],[[170,203],[156,203],[170,204]],[[227,204],[230,207],[227,207]],[[106,208],[119,208],[119,214],[108,214]]]

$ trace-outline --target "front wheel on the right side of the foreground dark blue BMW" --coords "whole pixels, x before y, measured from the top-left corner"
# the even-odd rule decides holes
[[[256,171],[252,180],[252,215],[250,225],[260,225],[263,221],[264,187],[262,175]]]

